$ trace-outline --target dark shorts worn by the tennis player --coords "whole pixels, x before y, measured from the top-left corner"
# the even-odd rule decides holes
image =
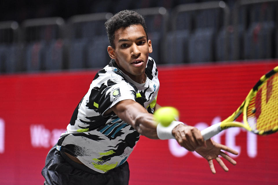
[[[72,161],[63,152],[56,150],[55,145],[47,154],[41,174],[45,178],[44,185],[127,185],[129,166],[125,162],[107,173],[99,173]]]

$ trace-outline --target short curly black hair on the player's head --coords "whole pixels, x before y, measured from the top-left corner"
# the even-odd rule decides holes
[[[140,24],[145,30],[147,39],[147,26],[145,23],[145,19],[142,15],[140,15],[138,12],[133,10],[122,10],[118,13],[116,13],[113,17],[111,17],[109,20],[105,22],[105,29],[107,32],[107,36],[109,39],[110,45],[115,48],[115,31],[120,28],[127,28],[130,25],[133,24]]]

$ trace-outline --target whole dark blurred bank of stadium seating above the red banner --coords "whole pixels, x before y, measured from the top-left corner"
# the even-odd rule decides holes
[[[69,16],[66,23],[61,17],[26,19],[20,26],[0,22],[0,72],[104,67],[110,60],[104,23],[123,9],[145,17],[157,64],[278,58],[278,0],[85,4],[94,13]]]

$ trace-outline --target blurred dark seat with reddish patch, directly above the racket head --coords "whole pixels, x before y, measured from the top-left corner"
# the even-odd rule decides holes
[[[277,3],[276,3],[277,5]],[[260,3],[250,8],[250,26],[244,34],[244,58],[273,58],[275,39],[275,6]]]

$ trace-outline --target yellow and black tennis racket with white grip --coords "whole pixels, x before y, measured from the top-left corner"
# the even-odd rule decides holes
[[[204,140],[230,127],[242,127],[259,135],[278,130],[278,66],[260,78],[237,110],[224,121],[201,131]],[[243,112],[243,122],[235,121]]]

